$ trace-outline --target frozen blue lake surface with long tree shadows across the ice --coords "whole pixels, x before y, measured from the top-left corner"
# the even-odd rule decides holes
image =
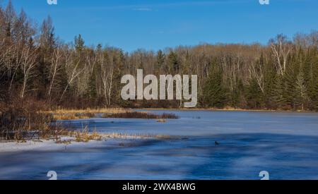
[[[0,179],[318,179],[318,114],[259,111],[172,112],[180,119],[86,119],[100,133],[160,134],[125,146],[0,153]],[[215,141],[220,145],[216,146]]]

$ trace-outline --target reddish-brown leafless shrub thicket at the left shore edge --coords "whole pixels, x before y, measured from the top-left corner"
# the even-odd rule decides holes
[[[63,126],[54,123],[52,114],[45,109],[44,102],[33,99],[7,98],[0,103],[0,139],[25,141],[28,139],[57,138],[69,135]]]

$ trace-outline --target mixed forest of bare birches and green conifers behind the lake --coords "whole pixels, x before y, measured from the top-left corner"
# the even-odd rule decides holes
[[[110,37],[111,38],[111,37]],[[124,101],[122,75],[198,75],[198,107],[318,110],[318,31],[277,35],[268,44],[199,44],[131,53],[81,35],[66,43],[51,18],[37,24],[11,1],[0,8],[1,101],[54,107],[179,107],[175,101]],[[1,103],[1,102],[0,102]]]

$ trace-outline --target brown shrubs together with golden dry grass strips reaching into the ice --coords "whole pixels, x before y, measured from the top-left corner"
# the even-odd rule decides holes
[[[47,104],[34,99],[20,97],[4,97],[0,101],[0,140],[23,143],[28,140],[54,140],[56,143],[70,144],[76,142],[89,142],[90,140],[107,140],[111,138],[137,139],[137,138],[169,138],[165,135],[130,135],[122,133],[99,134],[90,130],[88,126],[75,131],[57,120],[70,120],[78,118],[91,118],[98,113],[118,115],[122,118],[146,119],[176,119],[173,114],[149,114],[145,112],[132,112],[124,109],[87,109],[87,110],[57,110],[47,111]]]

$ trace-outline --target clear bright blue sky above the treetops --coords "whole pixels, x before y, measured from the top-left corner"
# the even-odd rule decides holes
[[[1,1],[1,0],[0,0]],[[6,4],[7,0],[2,0]],[[207,43],[266,44],[283,33],[318,30],[317,0],[13,0],[37,23],[52,16],[66,42],[81,33],[86,44],[125,51]]]

